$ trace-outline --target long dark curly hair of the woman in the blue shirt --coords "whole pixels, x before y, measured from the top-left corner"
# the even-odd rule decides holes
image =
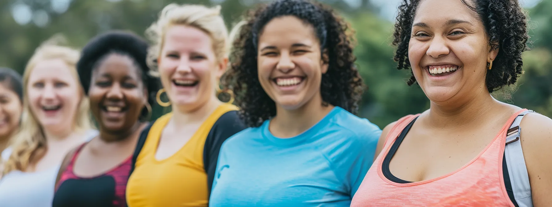
[[[230,69],[221,78],[225,89],[236,93],[236,105],[248,126],[258,127],[276,115],[276,105],[259,83],[257,71],[257,36],[270,20],[292,15],[312,25],[325,51],[328,71],[322,75],[320,93],[323,105],[332,104],[353,114],[364,91],[364,83],[354,65],[351,26],[333,9],[308,0],[278,0],[246,13],[244,22],[231,34],[236,35]],[[241,29],[239,32],[237,29]],[[232,35],[231,35],[232,36]]]

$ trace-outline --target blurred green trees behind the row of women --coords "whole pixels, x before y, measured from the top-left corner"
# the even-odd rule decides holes
[[[259,0],[0,0],[0,66],[23,73],[35,48],[55,34],[81,48],[108,30],[144,31],[168,3],[221,4],[229,29]],[[326,0],[353,25],[357,64],[367,84],[360,117],[383,128],[407,114],[429,108],[418,86],[408,87],[407,71],[396,69],[390,46],[400,0]],[[530,16],[532,50],[524,53],[524,75],[496,98],[552,117],[552,0],[521,0]],[[152,119],[168,112],[154,106]]]

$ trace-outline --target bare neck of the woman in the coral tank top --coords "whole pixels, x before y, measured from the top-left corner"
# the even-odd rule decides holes
[[[480,123],[479,120],[482,118],[492,117],[497,110],[501,110],[507,105],[493,98],[486,91],[486,87],[471,94],[463,101],[443,104],[432,102],[427,114],[428,124],[436,128],[442,128],[444,123],[447,126],[460,128],[471,127],[473,124]]]

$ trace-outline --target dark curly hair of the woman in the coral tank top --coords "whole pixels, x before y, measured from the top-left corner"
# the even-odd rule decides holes
[[[397,46],[394,60],[397,69],[412,72],[408,60],[408,43],[412,33],[412,21],[422,0],[402,0],[396,18],[392,44]],[[487,71],[486,86],[489,93],[515,84],[522,75],[522,52],[529,50],[527,14],[517,0],[461,0],[476,14],[485,27],[492,49],[498,50],[492,70]],[[471,5],[470,5],[471,4]],[[413,73],[408,86],[416,83]]]

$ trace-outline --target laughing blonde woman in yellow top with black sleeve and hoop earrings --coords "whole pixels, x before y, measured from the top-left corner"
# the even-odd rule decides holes
[[[207,206],[219,148],[245,129],[237,107],[217,97],[226,70],[227,29],[220,7],[170,4],[146,31],[148,61],[172,112],[142,132],[126,199],[131,207]],[[169,102],[162,102],[166,93]],[[230,93],[231,94],[231,93]]]

